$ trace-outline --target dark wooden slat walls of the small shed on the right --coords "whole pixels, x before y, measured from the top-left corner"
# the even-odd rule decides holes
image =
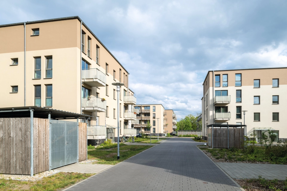
[[[207,145],[209,147],[242,148],[244,128],[213,128],[213,131],[212,128],[210,128],[207,129],[207,134]]]

